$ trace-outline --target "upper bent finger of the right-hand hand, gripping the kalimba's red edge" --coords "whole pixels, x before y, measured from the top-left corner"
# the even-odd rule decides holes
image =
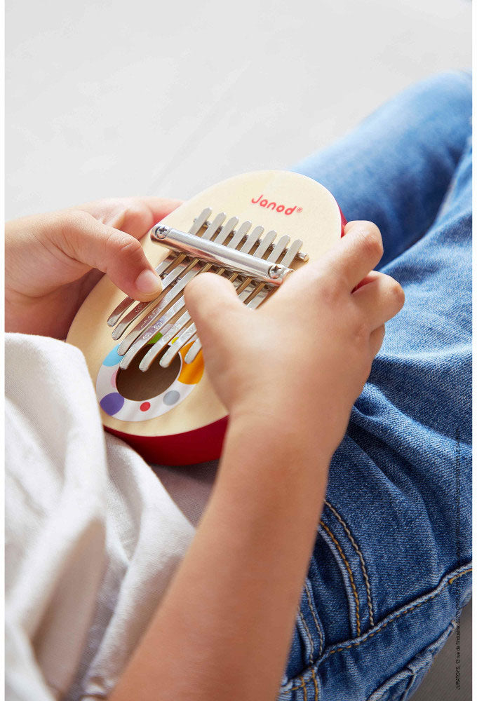
[[[372,222],[349,222],[345,236],[325,257],[330,273],[342,278],[351,292],[382,257],[382,238]]]

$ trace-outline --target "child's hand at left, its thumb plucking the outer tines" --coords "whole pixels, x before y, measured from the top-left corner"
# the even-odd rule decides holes
[[[6,330],[64,339],[103,273],[134,299],[161,281],[138,242],[179,200],[100,200],[6,225]]]

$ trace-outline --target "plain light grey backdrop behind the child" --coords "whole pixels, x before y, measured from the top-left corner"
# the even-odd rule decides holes
[[[7,0],[6,214],[286,168],[471,62],[464,0]],[[196,519],[214,470],[159,470]],[[194,494],[192,502],[182,503]],[[416,701],[470,699],[470,607]]]

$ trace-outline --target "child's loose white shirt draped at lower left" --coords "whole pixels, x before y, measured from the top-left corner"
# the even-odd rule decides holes
[[[210,470],[184,492],[183,469],[104,433],[81,351],[6,335],[8,701],[107,697],[210,494]]]

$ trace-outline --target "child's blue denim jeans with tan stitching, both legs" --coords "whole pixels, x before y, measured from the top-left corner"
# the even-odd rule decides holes
[[[293,168],[376,222],[406,301],[332,459],[283,701],[407,699],[470,598],[470,118],[470,76],[434,76]]]

